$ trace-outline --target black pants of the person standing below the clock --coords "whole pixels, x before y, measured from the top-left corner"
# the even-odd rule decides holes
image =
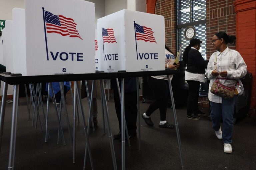
[[[199,98],[199,89],[200,82],[187,80],[188,82],[188,102],[187,102],[187,115],[198,112],[198,98]]]

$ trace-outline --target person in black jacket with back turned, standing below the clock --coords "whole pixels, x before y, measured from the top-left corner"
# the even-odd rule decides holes
[[[183,60],[187,65],[185,71],[185,81],[188,82],[189,95],[187,102],[187,118],[199,120],[205,113],[198,109],[198,97],[200,82],[205,82],[206,63],[201,53],[198,51],[202,41],[199,39],[190,40],[189,45],[183,52]]]

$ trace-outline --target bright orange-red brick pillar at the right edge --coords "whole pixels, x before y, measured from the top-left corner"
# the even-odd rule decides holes
[[[256,87],[256,1],[236,0],[236,49],[243,56],[247,70],[252,73],[253,85]],[[256,109],[256,91],[252,88],[250,108]]]

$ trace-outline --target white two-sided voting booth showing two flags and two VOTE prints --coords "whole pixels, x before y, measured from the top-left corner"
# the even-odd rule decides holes
[[[165,70],[164,17],[121,10],[98,19],[98,69]]]

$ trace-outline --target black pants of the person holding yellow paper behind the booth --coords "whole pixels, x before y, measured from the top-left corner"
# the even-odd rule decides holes
[[[159,108],[160,120],[165,121],[169,93],[168,81],[149,76],[148,85],[153,92],[155,100],[153,100],[149,105],[148,110],[146,111],[146,115],[150,116],[155,110]]]

